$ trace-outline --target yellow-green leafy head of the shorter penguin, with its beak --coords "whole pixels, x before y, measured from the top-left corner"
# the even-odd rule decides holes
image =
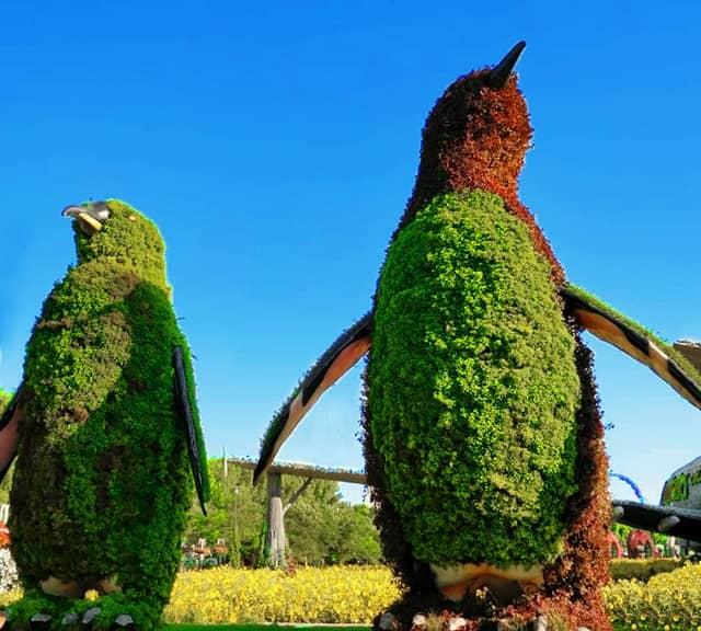
[[[67,206],[64,217],[73,219],[78,263],[102,259],[116,265],[165,271],[163,239],[156,225],[118,199]]]

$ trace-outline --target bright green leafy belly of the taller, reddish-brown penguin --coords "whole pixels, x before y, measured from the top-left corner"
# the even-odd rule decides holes
[[[416,559],[552,560],[579,380],[548,263],[502,200],[437,197],[378,284],[368,431]]]

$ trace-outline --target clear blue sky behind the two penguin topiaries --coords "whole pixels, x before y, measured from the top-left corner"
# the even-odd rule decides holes
[[[119,197],[165,238],[210,454],[255,457],[368,309],[433,103],[519,39],[521,196],[568,278],[669,341],[701,337],[700,28],[691,0],[0,0],[0,387],[74,261],[61,208]],[[612,468],[657,500],[701,454],[701,413],[591,346]],[[360,468],[358,393],[356,369],[280,457]]]

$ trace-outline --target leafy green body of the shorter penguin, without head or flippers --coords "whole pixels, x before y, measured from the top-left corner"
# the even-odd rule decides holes
[[[96,269],[69,271],[27,345],[13,557],[47,593],[165,603],[192,497],[171,367],[184,341],[161,288]]]

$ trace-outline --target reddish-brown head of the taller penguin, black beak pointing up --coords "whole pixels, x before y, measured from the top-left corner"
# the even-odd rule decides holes
[[[513,73],[525,46],[519,42],[493,68],[458,78],[437,101],[424,127],[416,182],[428,198],[474,188],[516,196],[532,136]]]

